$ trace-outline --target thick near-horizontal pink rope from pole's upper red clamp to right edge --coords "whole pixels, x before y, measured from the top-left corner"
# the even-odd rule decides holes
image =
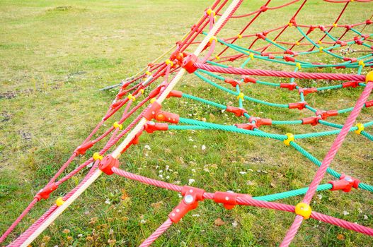
[[[365,81],[365,76],[352,74],[337,74],[337,73],[305,73],[305,72],[287,72],[287,71],[267,71],[264,69],[250,68],[222,68],[219,66],[210,66],[206,64],[195,64],[195,67],[204,69],[205,71],[229,73],[246,76],[275,76],[286,78],[303,78],[303,79],[324,79],[324,80],[357,80]]]

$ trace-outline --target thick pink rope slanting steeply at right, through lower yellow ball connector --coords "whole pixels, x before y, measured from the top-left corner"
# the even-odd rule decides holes
[[[345,125],[341,129],[340,133],[337,135],[337,138],[335,138],[333,145],[326,154],[326,157],[323,159],[320,168],[317,170],[314,180],[311,182],[311,185],[309,186],[306,195],[304,195],[303,203],[309,204],[311,202],[312,197],[316,193],[317,186],[319,186],[321,179],[323,179],[323,176],[325,175],[326,169],[328,169],[329,164],[331,164],[331,162],[333,161],[335,155],[337,154],[340,146],[343,143],[343,140],[345,140],[346,135],[350,131],[352,124],[355,122],[357,116],[360,114],[362,107],[364,107],[364,104],[367,101],[370,92],[372,92],[372,89],[373,82],[368,82],[367,86],[362,91],[362,94],[357,100],[354,109],[352,109],[350,116],[348,116]],[[297,234],[297,231],[300,225],[302,224],[302,221],[302,216],[297,215],[297,217],[295,217],[292,226],[290,227],[289,231],[285,236],[285,239],[282,241],[280,246],[289,246],[289,244],[292,242],[292,239],[294,239],[295,234]]]

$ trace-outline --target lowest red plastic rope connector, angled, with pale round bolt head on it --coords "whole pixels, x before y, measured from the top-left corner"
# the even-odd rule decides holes
[[[183,186],[181,195],[184,196],[183,200],[177,205],[168,215],[172,222],[177,223],[182,219],[190,210],[194,210],[198,206],[198,202],[203,200],[205,193],[202,188],[195,188],[191,186]]]

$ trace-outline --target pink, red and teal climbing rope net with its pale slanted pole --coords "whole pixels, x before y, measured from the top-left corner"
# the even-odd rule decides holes
[[[207,199],[222,203],[226,209],[231,209],[236,205],[249,205],[293,212],[295,214],[294,222],[280,246],[289,246],[304,219],[309,218],[373,236],[373,229],[370,227],[323,215],[311,210],[309,205],[316,191],[341,190],[350,192],[352,188],[360,188],[361,190],[373,192],[373,186],[348,174],[340,174],[329,166],[349,132],[355,132],[368,140],[373,140],[373,135],[367,132],[367,129],[373,126],[373,121],[354,124],[363,108],[373,106],[373,100],[368,99],[373,88],[373,72],[369,72],[369,69],[373,66],[373,34],[366,32],[373,21],[370,18],[361,20],[358,23],[341,23],[343,13],[348,8],[353,8],[354,4],[364,4],[363,2],[369,1],[356,0],[354,3],[343,0],[324,1],[328,2],[328,4],[340,4],[341,6],[341,11],[338,17],[335,18],[334,23],[328,25],[306,25],[302,23],[302,20],[298,20],[297,16],[302,13],[302,9],[307,5],[306,0],[289,1],[281,6],[275,6],[268,0],[256,11],[241,15],[237,15],[236,11],[242,4],[242,0],[231,2],[227,0],[215,1],[212,6],[205,9],[200,20],[193,25],[190,32],[182,40],[176,42],[174,47],[159,59],[148,64],[147,68],[144,68],[136,76],[127,78],[120,83],[120,90],[117,92],[115,100],[110,104],[108,112],[106,112],[103,119],[88,135],[86,140],[79,147],[76,147],[71,157],[50,179],[49,183],[35,195],[28,207],[1,236],[0,243],[6,239],[8,234],[13,231],[38,201],[48,199],[50,194],[56,191],[62,183],[71,179],[85,167],[89,167],[88,165],[92,165],[92,167],[79,185],[62,198],[57,198],[55,204],[17,239],[11,242],[9,246],[28,246],[103,173],[108,175],[117,174],[127,179],[166,188],[183,195],[180,204],[176,205],[166,221],[141,246],[149,246],[166,229],[171,227],[171,224],[177,223],[190,210],[195,209],[198,203]],[[287,23],[280,23],[280,26],[270,30],[251,32],[251,26],[258,18],[287,6],[296,6],[296,11]],[[224,25],[229,20],[237,19],[244,20],[244,28],[234,37],[222,37],[221,31]],[[290,30],[298,36],[292,35],[293,41],[282,40],[282,37]],[[339,35],[335,35],[336,33]],[[190,51],[193,47],[197,47],[194,52]],[[321,56],[327,56],[328,61],[331,62],[321,62],[323,61]],[[166,59],[164,59],[165,57]],[[163,60],[161,61],[162,58]],[[314,61],[311,61],[311,59],[314,59]],[[256,66],[258,63],[272,64],[277,66],[275,68],[282,68],[283,66],[287,70],[247,68],[253,63],[256,63]],[[324,73],[332,70],[339,70],[343,73]],[[173,90],[185,73],[190,73],[191,76],[194,76],[193,80],[199,78],[203,83],[207,83],[215,90],[220,90],[230,95],[224,100],[236,100],[237,104],[221,104],[220,102],[222,101],[214,102],[212,99],[196,97],[187,92]],[[309,80],[328,83],[319,88],[304,87],[303,85],[307,85],[306,82],[309,82]],[[279,83],[279,81],[282,83]],[[248,86],[251,83],[256,84],[257,87],[288,90],[291,94],[299,95],[299,101],[280,104],[251,97],[253,88]],[[309,94],[317,94],[326,90],[343,90],[343,88],[357,88],[356,90],[363,88],[353,107],[326,110],[316,108],[316,106],[308,104],[306,101],[306,96]],[[200,121],[179,116],[175,112],[166,112],[162,110],[162,102],[170,97],[206,104],[211,109],[216,107],[216,109],[232,114],[232,116],[237,116],[237,118],[233,119],[238,122],[232,125],[209,123],[205,119]],[[253,111],[248,109],[246,102],[265,105],[273,109],[299,110],[306,112],[307,116],[293,120],[261,118],[260,115],[255,115]],[[117,116],[116,113],[121,114],[119,119],[113,119]],[[345,123],[333,123],[331,120],[333,116],[337,115],[348,115]],[[98,131],[108,121],[112,121],[111,123],[113,124],[101,135],[98,135]],[[274,133],[270,131],[271,128],[282,125],[324,126],[331,128],[331,130],[300,134]],[[314,130],[316,127],[312,129]],[[129,171],[125,171],[125,167],[120,169],[118,158],[132,145],[139,143],[140,135],[168,130],[215,130],[256,138],[271,138],[285,143],[289,148],[294,148],[294,150],[304,155],[319,168],[309,187],[272,195],[257,196],[233,193],[231,191],[208,193],[203,188],[178,186],[173,183],[132,174]],[[336,137],[322,161],[297,144],[299,139],[326,135],[335,135]],[[98,147],[98,143],[104,142],[103,140],[106,140],[106,143],[101,145],[102,149],[100,151],[95,152],[93,157],[86,160],[86,162],[64,174],[65,169],[69,167],[69,164],[77,156],[86,154],[86,151],[93,146]],[[110,154],[108,154],[108,151],[110,151]],[[335,180],[321,184],[321,180],[326,173],[334,176]],[[272,202],[297,195],[304,195],[304,197],[295,206]]]

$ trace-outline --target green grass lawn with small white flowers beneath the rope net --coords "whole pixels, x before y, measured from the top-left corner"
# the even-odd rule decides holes
[[[286,1],[275,2],[277,5]],[[188,32],[208,4],[181,0],[0,2],[1,233],[101,120],[115,92],[100,92],[98,89],[132,76],[166,51]],[[239,13],[248,13],[262,4],[260,1],[246,1]],[[313,25],[333,23],[343,5],[327,4],[326,8],[323,4],[319,1],[307,2],[307,11],[302,11],[298,19]],[[352,3],[340,23],[366,20],[372,14],[368,9],[372,9],[372,4]],[[287,23],[294,11],[296,6],[268,11],[268,15],[258,18],[248,32]],[[222,30],[222,37],[236,35],[246,20],[231,20]],[[372,32],[371,26],[365,30],[365,33]],[[294,30],[287,32],[283,40],[299,37],[299,34],[294,35]],[[333,35],[337,36],[338,32],[333,32]],[[316,34],[311,35],[314,40],[317,37]],[[244,45],[244,42],[244,39],[239,40],[238,44]],[[310,59],[315,59],[315,56],[311,55]],[[335,62],[328,56],[320,59]],[[239,63],[233,65],[238,66]],[[248,64],[249,68],[258,66],[279,69],[260,61]],[[287,81],[282,79],[282,82]],[[331,82],[300,80],[298,83],[322,86]],[[229,101],[236,104],[235,97],[202,83],[195,76],[185,76],[176,90],[222,104]],[[306,99],[312,106],[341,109],[351,107],[361,91],[361,88],[334,90],[308,95]],[[285,104],[299,99],[296,93],[260,85],[250,85],[244,92],[268,102]],[[249,102],[245,104],[255,116],[277,120],[309,116],[308,112],[278,110]],[[165,109],[187,118],[205,117],[214,123],[241,121],[185,99],[170,99]],[[333,120],[343,123],[345,116],[337,116]],[[118,118],[117,114],[113,119]],[[108,126],[113,121],[108,121]],[[372,110],[363,110],[359,121],[372,121]],[[263,130],[273,133],[327,129],[323,126],[263,126]],[[334,136],[331,136],[299,140],[297,143],[322,159],[333,139]],[[159,179],[159,171],[163,170],[164,177],[170,176],[166,181],[183,185],[188,184],[189,179],[195,179],[193,186],[210,192],[232,190],[253,196],[279,193],[308,186],[316,172],[314,164],[275,140],[217,131],[144,134],[140,140],[139,145],[122,155],[122,169],[154,179]],[[144,149],[144,145],[149,145],[151,150]],[[202,145],[207,147],[205,151],[201,150]],[[100,145],[84,157],[77,158],[69,170],[84,162],[98,147]],[[331,167],[372,184],[372,148],[367,139],[348,135]],[[85,171],[60,186],[50,200],[38,203],[6,243],[38,219],[55,198],[76,186]],[[328,175],[323,183],[331,179]],[[127,195],[125,200],[121,199],[123,193]],[[362,190],[351,193],[324,191],[319,195],[322,198],[316,196],[311,205],[314,210],[373,226],[372,193]],[[105,203],[106,200],[110,204]],[[159,227],[179,200],[178,194],[171,191],[144,186],[119,176],[101,176],[34,241],[33,246],[105,246],[110,243],[137,246]],[[295,205],[299,200],[301,197],[281,202]],[[343,211],[349,212],[349,215],[343,215]],[[217,218],[225,224],[215,226]],[[140,223],[142,219],[144,224]],[[254,207],[236,207],[227,211],[221,205],[206,200],[182,222],[166,231],[154,246],[276,246],[293,219],[294,215],[290,213]],[[237,224],[236,227],[232,223]],[[69,232],[64,229],[69,229]],[[339,234],[343,235],[342,240],[338,238]],[[292,244],[372,246],[372,238],[309,219],[302,224]]]

